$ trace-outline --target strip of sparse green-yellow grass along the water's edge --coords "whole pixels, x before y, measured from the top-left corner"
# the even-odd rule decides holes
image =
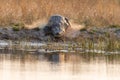
[[[107,36],[106,36],[107,37]],[[75,53],[81,53],[81,52],[93,52],[93,53],[114,53],[120,52],[120,40],[117,40],[113,37],[107,37],[102,38],[99,37],[96,40],[91,40],[87,38],[82,38],[79,41],[66,41],[66,42],[42,42],[43,46],[37,45],[31,45],[31,43],[27,41],[13,41],[9,42],[9,45],[6,47],[3,47],[4,50],[22,50],[22,51],[37,51],[37,50],[45,50],[46,51],[61,51],[61,50],[67,50],[68,52],[75,52]]]

